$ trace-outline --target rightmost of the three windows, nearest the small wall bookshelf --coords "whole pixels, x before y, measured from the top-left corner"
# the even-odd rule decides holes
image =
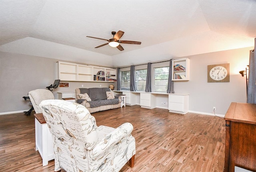
[[[167,91],[169,67],[154,68],[154,91]]]

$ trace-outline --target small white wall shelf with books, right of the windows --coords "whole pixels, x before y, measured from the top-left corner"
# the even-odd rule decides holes
[[[189,59],[172,59],[172,81],[189,80]]]

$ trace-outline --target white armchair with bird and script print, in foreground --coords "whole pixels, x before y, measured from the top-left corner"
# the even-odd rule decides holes
[[[133,126],[97,127],[86,107],[63,100],[44,100],[42,113],[53,136],[55,171],[118,172],[134,165]]]

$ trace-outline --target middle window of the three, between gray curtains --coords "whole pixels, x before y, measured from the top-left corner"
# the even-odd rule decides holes
[[[145,91],[147,81],[147,69],[135,71],[135,83],[138,91]]]

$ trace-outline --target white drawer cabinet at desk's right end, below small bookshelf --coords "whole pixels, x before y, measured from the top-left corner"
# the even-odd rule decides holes
[[[188,113],[188,95],[169,95],[169,112],[186,114]]]

